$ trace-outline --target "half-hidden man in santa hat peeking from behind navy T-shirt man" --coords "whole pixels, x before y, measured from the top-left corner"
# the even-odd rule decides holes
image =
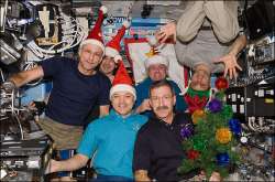
[[[102,72],[112,82],[114,77],[114,69],[117,68],[117,63],[114,62],[113,57],[120,54],[121,46],[120,42],[125,34],[125,30],[129,29],[130,22],[124,21],[122,26],[118,31],[117,35],[106,44],[106,54],[100,64],[100,72]]]

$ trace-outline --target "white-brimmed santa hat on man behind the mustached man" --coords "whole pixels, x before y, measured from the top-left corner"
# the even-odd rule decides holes
[[[154,47],[151,47],[150,52],[146,53],[147,58],[145,60],[145,67],[148,68],[153,64],[164,64],[166,67],[169,66],[169,62],[165,55],[161,55]]]

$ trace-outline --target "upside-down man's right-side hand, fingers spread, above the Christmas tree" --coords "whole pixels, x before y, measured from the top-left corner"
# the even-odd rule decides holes
[[[238,77],[237,68],[242,71],[242,67],[237,63],[237,57],[233,54],[227,54],[213,62],[224,64],[223,76],[226,77],[229,74],[230,79]]]

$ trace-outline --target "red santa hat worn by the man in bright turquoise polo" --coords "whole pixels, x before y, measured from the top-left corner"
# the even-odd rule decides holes
[[[117,92],[129,92],[134,96],[134,100],[136,99],[136,93],[133,87],[133,81],[129,76],[127,68],[122,62],[122,57],[120,55],[114,56],[114,61],[119,63],[119,68],[117,74],[112,81],[112,87],[110,90],[110,99],[112,95]]]

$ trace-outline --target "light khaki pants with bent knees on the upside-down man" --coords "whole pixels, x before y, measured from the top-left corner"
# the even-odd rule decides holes
[[[239,33],[238,1],[187,1],[177,21],[177,38],[182,42],[191,41],[207,19],[219,42],[229,43]]]

